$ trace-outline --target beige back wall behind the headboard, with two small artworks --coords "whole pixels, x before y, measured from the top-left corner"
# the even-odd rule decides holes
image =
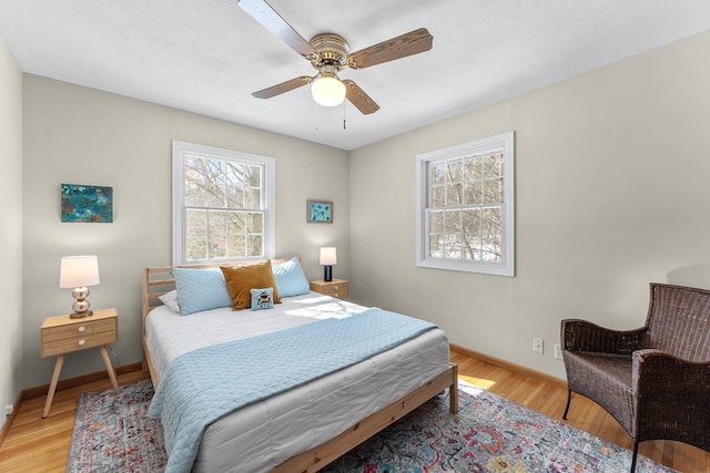
[[[89,300],[93,308],[119,309],[114,350],[121,363],[141,360],[142,269],[171,264],[172,140],[274,157],[277,256],[301,256],[316,279],[318,247],[333,245],[337,275],[349,276],[346,152],[26,75],[22,388],[51,378],[54,359],[40,359],[39,327],[70,311],[71,291],[58,287],[67,255],[99,256],[101,285]],[[61,223],[61,183],[112,186],[114,223]],[[306,224],[308,198],[334,202],[333,225]],[[101,369],[95,349],[71,353],[62,379]]]

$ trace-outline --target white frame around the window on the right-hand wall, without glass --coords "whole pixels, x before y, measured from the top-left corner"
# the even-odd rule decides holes
[[[429,163],[450,160],[474,153],[485,153],[503,147],[504,153],[504,191],[501,218],[503,261],[473,261],[445,257],[428,256],[428,218],[429,183],[427,168]],[[508,132],[496,136],[476,140],[468,143],[437,150],[416,156],[416,265],[422,268],[447,269],[454,271],[483,273],[497,276],[515,276],[515,133]]]

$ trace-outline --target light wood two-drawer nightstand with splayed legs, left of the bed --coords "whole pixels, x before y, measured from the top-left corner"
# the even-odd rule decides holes
[[[115,309],[94,310],[93,316],[82,319],[71,319],[69,316],[49,317],[42,322],[40,335],[42,358],[57,354],[42,419],[49,415],[65,353],[100,347],[111,384],[116,393],[121,392],[106,350],[106,346],[116,341],[119,335],[119,312]]]

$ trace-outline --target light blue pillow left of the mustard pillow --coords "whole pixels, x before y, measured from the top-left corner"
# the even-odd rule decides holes
[[[232,299],[219,269],[173,268],[180,315],[230,307]]]

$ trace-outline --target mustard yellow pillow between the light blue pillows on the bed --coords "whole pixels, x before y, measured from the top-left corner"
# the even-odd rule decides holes
[[[221,266],[226,288],[232,298],[232,310],[243,310],[252,307],[252,289],[273,287],[274,304],[281,304],[278,289],[271,270],[271,261],[258,265],[227,267]]]

